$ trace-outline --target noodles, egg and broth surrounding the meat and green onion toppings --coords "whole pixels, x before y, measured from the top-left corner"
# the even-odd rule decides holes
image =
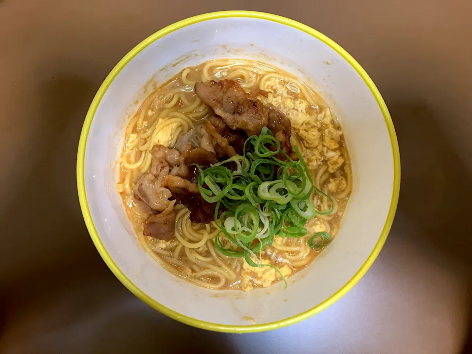
[[[313,261],[321,249],[310,248],[308,238],[317,232],[329,233],[334,238],[339,231],[352,190],[349,154],[341,126],[326,102],[291,74],[267,64],[252,60],[207,61],[183,69],[154,90],[126,128],[117,190],[140,243],[161,266],[199,286],[249,291],[271,286],[281,277],[273,268],[251,267],[244,258],[219,254],[214,244],[218,234],[214,221],[193,224],[189,219],[190,211],[180,204],[175,205],[176,238],[165,241],[144,236],[143,225],[150,212],[133,192],[136,182],[151,167],[150,152],[155,145],[174,148],[181,134],[214,114],[195,93],[195,83],[221,79],[237,81],[246,92],[257,88],[269,92],[268,98],[259,95],[258,99],[274,105],[290,119],[292,145],[300,148],[315,185],[329,195],[334,204],[332,214],[317,214],[307,222],[306,236],[276,236],[272,246],[261,252],[262,262],[276,266],[289,277]],[[323,195],[314,193],[312,198],[317,209],[331,207]],[[167,206],[175,203],[167,202]],[[225,247],[236,249],[224,236],[220,239]]]

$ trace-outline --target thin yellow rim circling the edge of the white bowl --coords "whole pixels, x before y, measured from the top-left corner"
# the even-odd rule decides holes
[[[165,35],[177,29],[181,29],[183,27],[193,25],[198,22],[203,22],[203,21],[213,20],[213,19],[228,18],[228,17],[257,18],[261,20],[273,21],[282,25],[290,26],[295,29],[299,29],[303,32],[306,32],[308,34],[311,34],[315,38],[321,40],[322,42],[327,44],[329,47],[334,49],[337,53],[339,53],[347,62],[349,62],[354,67],[354,69],[362,77],[362,79],[364,80],[364,82],[366,83],[366,85],[369,87],[372,94],[374,95],[375,99],[377,100],[377,103],[379,104],[379,107],[383,113],[383,118],[385,119],[385,123],[387,125],[388,134],[390,135],[390,140],[391,140],[392,150],[393,150],[394,179],[393,179],[393,193],[392,193],[390,208],[388,211],[387,218],[385,220],[385,225],[383,226],[382,234],[380,235],[379,240],[377,241],[372,253],[369,255],[365,263],[360,267],[357,273],[355,273],[354,277],[351,280],[349,280],[349,282],[346,285],[344,285],[337,293],[330,296],[329,298],[324,300],[322,303],[318,304],[317,306],[313,307],[312,309],[308,311],[305,311],[303,313],[300,313],[288,319],[280,320],[280,321],[272,322],[272,323],[267,323],[267,324],[226,325],[226,324],[215,324],[215,323],[200,321],[200,320],[179,314],[178,312],[161,305],[160,303],[158,303],[157,301],[155,301],[154,299],[152,299],[151,297],[143,293],[136,285],[134,285],[123,274],[123,272],[118,268],[118,266],[115,264],[115,262],[110,257],[107,250],[105,249],[102,241],[100,240],[100,236],[98,236],[98,233],[93,224],[92,217],[90,215],[89,205],[87,203],[87,195],[85,192],[84,162],[85,162],[85,149],[87,146],[87,138],[89,135],[90,125],[92,123],[93,116],[95,115],[97,107],[100,104],[100,101],[105,91],[108,89],[108,87],[113,82],[113,80],[117,77],[121,69],[123,69],[123,67],[131,59],[133,59],[138,53],[140,53],[143,49],[145,49],[149,44],[151,44],[157,39],[162,38]],[[282,16],[272,15],[272,14],[268,14],[264,12],[254,12],[254,11],[212,12],[212,13],[207,13],[207,14],[203,14],[199,16],[190,17],[188,19],[176,22],[175,24],[170,25],[152,34],[151,36],[146,38],[144,41],[142,41],[140,44],[138,44],[136,47],[134,47],[123,59],[121,59],[118,62],[118,64],[113,68],[110,74],[108,74],[107,78],[105,79],[103,84],[100,86],[100,89],[98,89],[98,92],[93,98],[93,101],[87,113],[87,117],[85,118],[84,125],[82,127],[82,133],[80,135],[80,141],[79,141],[79,148],[77,151],[77,189],[79,193],[79,201],[80,201],[80,207],[82,209],[82,214],[84,216],[85,223],[89,230],[90,237],[92,238],[93,243],[95,244],[95,247],[97,248],[98,252],[102,256],[107,266],[112,270],[112,272],[116,275],[119,281],[123,283],[123,285],[126,288],[128,288],[128,290],[130,290],[134,295],[138,296],[141,300],[146,302],[149,306],[162,312],[164,315],[167,315],[173,318],[174,320],[180,321],[184,324],[189,324],[195,327],[214,330],[214,331],[221,331],[221,332],[237,332],[237,333],[259,332],[259,331],[265,331],[269,329],[284,327],[289,324],[294,324],[299,321],[305,320],[308,317],[320,312],[321,310],[333,304],[335,301],[339,300],[343,295],[345,295],[349,290],[351,290],[351,288],[360,280],[360,278],[362,278],[362,276],[365,274],[367,269],[369,269],[369,267],[372,266],[380,250],[382,249],[385,239],[387,238],[387,235],[388,235],[388,232],[390,231],[390,227],[392,226],[393,218],[395,216],[395,211],[397,208],[398,195],[400,192],[400,152],[398,149],[398,142],[397,142],[397,137],[395,134],[395,128],[393,127],[392,119],[390,117],[390,114],[388,113],[388,109],[385,105],[385,102],[383,101],[382,95],[380,94],[379,90],[376,88],[376,86],[372,82],[369,75],[367,75],[365,70],[359,65],[359,63],[355,61],[355,59],[351,57],[351,55],[349,55],[348,52],[346,52],[334,41],[332,41],[331,39],[326,37],[324,34],[318,32],[315,29],[312,29],[306,25],[303,25],[299,22],[290,20]]]

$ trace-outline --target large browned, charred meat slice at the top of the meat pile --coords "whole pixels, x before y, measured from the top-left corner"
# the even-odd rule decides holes
[[[195,91],[233,130],[244,130],[251,136],[259,134],[267,125],[268,117],[263,103],[246,93],[236,81],[198,82]]]

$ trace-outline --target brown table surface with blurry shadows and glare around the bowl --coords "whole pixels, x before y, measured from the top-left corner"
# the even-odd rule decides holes
[[[0,0],[0,352],[471,353],[471,4]],[[75,182],[111,68],[158,29],[224,9],[290,17],[343,46],[383,93],[402,158],[397,216],[363,279],[304,322],[248,335],[179,324],[129,293],[89,238]]]

